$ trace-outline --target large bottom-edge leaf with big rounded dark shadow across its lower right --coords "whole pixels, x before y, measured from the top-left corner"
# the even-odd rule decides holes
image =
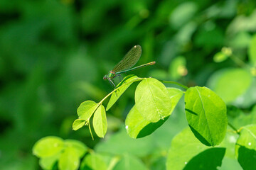
[[[206,147],[186,128],[171,142],[166,169],[217,169],[224,154],[225,148]]]

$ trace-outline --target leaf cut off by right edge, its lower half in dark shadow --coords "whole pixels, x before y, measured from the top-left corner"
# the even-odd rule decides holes
[[[235,155],[242,169],[256,169],[256,124],[242,128],[235,145]]]

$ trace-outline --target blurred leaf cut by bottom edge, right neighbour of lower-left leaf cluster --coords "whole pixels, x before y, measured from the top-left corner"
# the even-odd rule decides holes
[[[88,169],[107,170],[107,164],[100,154],[87,154],[86,157],[82,160],[80,170]]]

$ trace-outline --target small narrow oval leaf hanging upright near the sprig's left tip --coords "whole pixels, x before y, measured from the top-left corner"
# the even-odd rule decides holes
[[[99,106],[93,115],[93,128],[98,137],[104,137],[107,132],[107,117],[104,106]]]

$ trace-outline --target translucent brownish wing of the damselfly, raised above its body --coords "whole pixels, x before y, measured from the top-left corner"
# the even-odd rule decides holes
[[[133,67],[142,55],[142,47],[140,45],[135,45],[129,52],[124,56],[124,58],[112,69],[113,72],[121,72],[126,69]]]

